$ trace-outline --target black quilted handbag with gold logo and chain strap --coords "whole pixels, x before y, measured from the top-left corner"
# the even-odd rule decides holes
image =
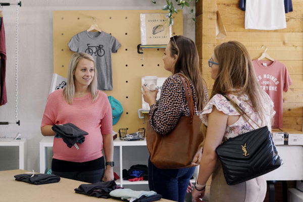
[[[223,95],[247,121],[244,117],[245,112],[226,94]],[[250,117],[248,118],[250,119]],[[254,120],[252,121],[259,126]],[[247,123],[250,125],[248,121]],[[258,129],[226,140],[216,148],[216,153],[222,164],[228,185],[238,184],[264,175],[283,164],[267,126],[259,126]]]

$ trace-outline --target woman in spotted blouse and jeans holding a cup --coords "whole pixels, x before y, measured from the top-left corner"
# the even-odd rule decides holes
[[[198,65],[197,49],[190,38],[182,35],[171,37],[162,59],[164,68],[172,75],[165,80],[159,100],[156,102],[158,90],[149,91],[144,85],[142,94],[150,106],[151,127],[156,132],[167,135],[181,116],[189,116],[185,89],[178,73],[189,81],[187,88],[192,92],[195,115],[199,115],[206,105],[208,94]],[[148,159],[149,189],[161,194],[163,198],[183,202],[186,192],[192,189],[189,180],[194,170],[195,167],[159,169]]]

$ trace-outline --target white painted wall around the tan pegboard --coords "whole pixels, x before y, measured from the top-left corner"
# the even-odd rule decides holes
[[[16,1],[2,1],[16,3]],[[192,6],[194,8],[194,2]],[[157,10],[158,0],[23,0],[19,7],[18,114],[21,125],[0,125],[0,135],[27,139],[26,170],[39,170],[41,118],[53,74],[53,11],[56,10]],[[195,24],[189,10],[183,11],[183,33],[194,40]],[[16,6],[3,7],[6,33],[8,103],[0,106],[0,121],[15,122]],[[139,27],[138,27],[139,29]],[[0,147],[0,170],[17,169],[18,152]]]

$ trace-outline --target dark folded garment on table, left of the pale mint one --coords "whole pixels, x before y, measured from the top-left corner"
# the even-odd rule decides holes
[[[75,192],[98,198],[110,198],[110,192],[116,188],[120,187],[112,180],[108,182],[96,182],[93,184],[81,184],[78,188],[75,188]]]

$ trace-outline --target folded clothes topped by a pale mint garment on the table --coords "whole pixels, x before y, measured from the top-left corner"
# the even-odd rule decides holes
[[[132,189],[115,189],[110,192],[112,198],[128,200],[132,202],[147,202],[160,200],[162,195],[155,191],[134,191]]]

